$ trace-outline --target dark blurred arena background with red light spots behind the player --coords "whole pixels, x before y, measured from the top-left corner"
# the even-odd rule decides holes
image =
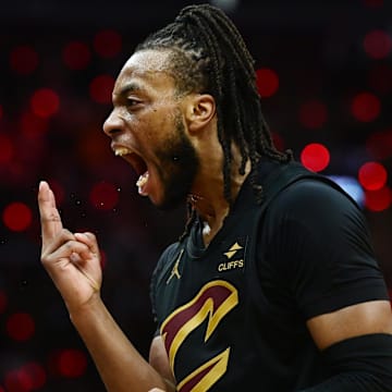
[[[145,36],[198,1],[13,0],[0,11],[0,392],[105,391],[39,262],[36,193],[64,224],[94,231],[102,295],[147,356],[149,277],[182,232],[101,132],[120,68]],[[256,60],[279,148],[359,203],[392,287],[392,2],[216,0]]]

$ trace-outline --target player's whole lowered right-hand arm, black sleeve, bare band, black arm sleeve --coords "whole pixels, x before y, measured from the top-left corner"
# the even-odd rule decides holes
[[[391,305],[362,212],[317,182],[297,183],[278,201],[273,255],[290,260],[279,275],[331,375],[306,392],[392,391]]]

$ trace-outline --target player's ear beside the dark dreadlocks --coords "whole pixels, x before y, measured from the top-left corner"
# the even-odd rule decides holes
[[[195,94],[187,102],[185,119],[189,133],[205,128],[216,115],[216,102],[209,94]]]

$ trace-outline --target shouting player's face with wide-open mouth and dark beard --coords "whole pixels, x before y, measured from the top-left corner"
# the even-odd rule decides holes
[[[134,53],[113,89],[113,110],[103,124],[114,152],[137,175],[138,192],[159,208],[186,199],[198,169],[183,117],[186,97],[176,95],[167,72],[169,51]]]

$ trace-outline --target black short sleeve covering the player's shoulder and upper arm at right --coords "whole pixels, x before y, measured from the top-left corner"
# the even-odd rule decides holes
[[[388,297],[366,219],[338,186],[322,179],[291,184],[264,224],[268,267],[306,318]]]

